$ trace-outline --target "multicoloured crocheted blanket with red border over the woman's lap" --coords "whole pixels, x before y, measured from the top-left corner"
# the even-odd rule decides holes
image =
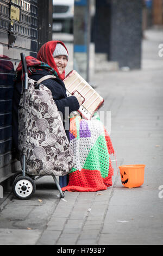
[[[114,154],[111,139],[97,115],[91,120],[70,119],[70,145],[74,167],[62,191],[99,191],[112,185],[114,170],[110,154]]]

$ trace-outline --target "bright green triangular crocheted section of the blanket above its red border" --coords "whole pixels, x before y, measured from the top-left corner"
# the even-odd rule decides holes
[[[99,136],[95,145],[90,150],[86,158],[83,169],[100,170],[102,178],[106,178],[109,173],[109,153],[106,145],[105,137]],[[71,172],[76,172],[77,169],[72,168]]]

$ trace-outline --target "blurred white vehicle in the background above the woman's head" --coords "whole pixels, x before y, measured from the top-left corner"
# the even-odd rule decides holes
[[[73,33],[74,0],[53,0],[53,32]]]

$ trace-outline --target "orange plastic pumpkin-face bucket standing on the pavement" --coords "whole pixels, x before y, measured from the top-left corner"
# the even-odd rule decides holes
[[[121,182],[124,187],[140,187],[145,178],[145,164],[119,166]]]

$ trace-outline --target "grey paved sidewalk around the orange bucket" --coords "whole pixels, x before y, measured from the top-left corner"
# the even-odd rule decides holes
[[[144,184],[123,187],[112,162],[108,190],[60,199],[53,179],[44,177],[33,198],[13,198],[0,212],[0,245],[162,245],[162,34],[146,32],[142,70],[100,72],[92,81],[105,99],[102,110],[111,111],[117,165],[146,164]]]

